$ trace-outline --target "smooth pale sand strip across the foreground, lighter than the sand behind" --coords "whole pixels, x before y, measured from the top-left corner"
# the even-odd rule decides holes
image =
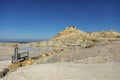
[[[51,63],[19,68],[1,80],[120,80],[120,63]]]

